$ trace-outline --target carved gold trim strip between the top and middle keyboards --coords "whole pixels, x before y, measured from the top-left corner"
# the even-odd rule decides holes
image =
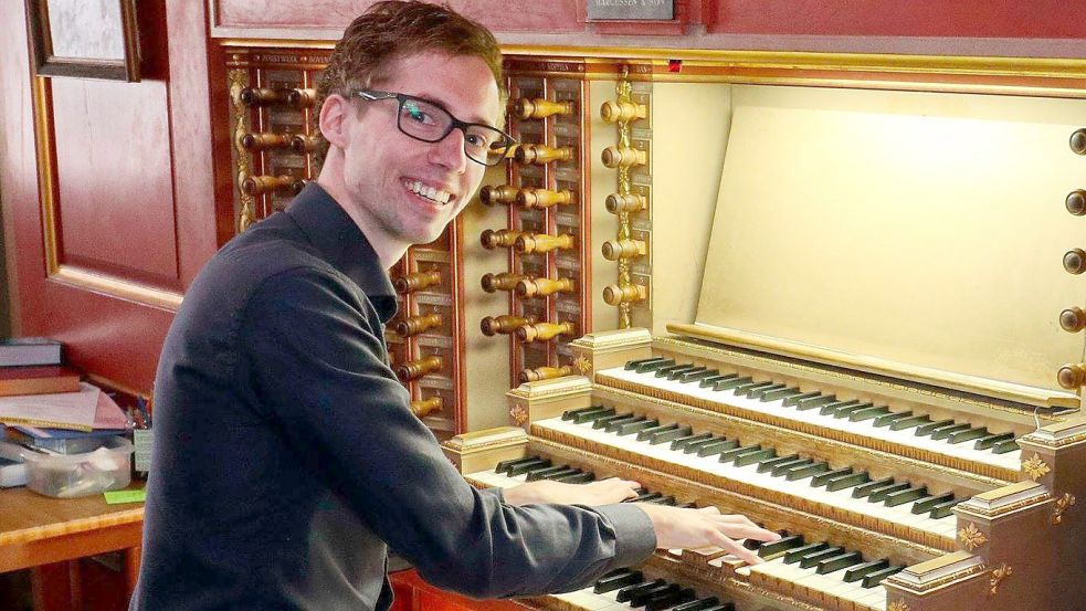
[[[878,452],[893,454],[894,456],[918,461],[925,464],[938,464],[957,471],[997,480],[997,482],[988,482],[991,485],[999,486],[999,485],[1003,485],[1006,482],[1013,482],[1018,480],[1019,471],[1014,468],[1003,468],[995,465],[976,463],[972,461],[967,461],[964,459],[958,459],[946,454],[938,454],[913,445],[905,445],[892,441],[872,439],[866,435],[850,433],[847,431],[837,431],[833,429],[826,429],[824,426],[819,426],[818,424],[798,422],[795,420],[791,420],[787,418],[779,418],[766,413],[752,412],[723,402],[715,402],[715,401],[709,401],[707,399],[697,399],[693,397],[681,397],[674,392],[661,390],[649,386],[636,384],[633,382],[628,382],[625,380],[619,380],[605,373],[597,373],[595,378],[597,378],[597,383],[600,384],[601,387],[620,390],[630,393],[634,397],[651,397],[660,401],[666,401],[667,404],[669,404],[669,407],[685,405],[685,407],[697,408],[714,413],[723,413],[725,415],[730,415],[732,418],[737,418],[740,420],[759,422],[761,424],[769,424],[771,426],[788,429],[790,431],[797,431],[809,435],[814,435],[821,439],[839,441],[842,443],[847,443],[850,445],[857,445],[860,447],[867,447]]]

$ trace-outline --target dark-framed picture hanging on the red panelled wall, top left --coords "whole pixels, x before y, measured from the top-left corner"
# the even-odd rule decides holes
[[[43,76],[139,81],[136,0],[25,0]]]

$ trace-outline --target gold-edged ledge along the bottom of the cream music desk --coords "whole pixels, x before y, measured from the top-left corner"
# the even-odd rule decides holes
[[[739,329],[709,327],[696,324],[671,324],[667,325],[667,330],[697,339],[724,341],[740,348],[761,350],[785,357],[799,357],[815,362],[858,369],[892,378],[917,380],[924,383],[974,392],[1030,405],[1078,408],[1080,402],[1078,396],[1071,392],[1015,384],[1001,380],[978,378],[976,376],[964,376],[951,371],[940,371],[874,357],[850,355],[808,344],[741,331]]]

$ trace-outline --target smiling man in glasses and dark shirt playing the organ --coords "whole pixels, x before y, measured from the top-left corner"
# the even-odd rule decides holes
[[[386,270],[500,162],[500,54],[445,7],[357,19],[319,88],[324,166],[186,294],[155,387],[134,610],[384,610],[391,547],[474,597],[583,587],[654,548],[773,539],[742,516],[618,504],[635,482],[468,486],[388,366]]]

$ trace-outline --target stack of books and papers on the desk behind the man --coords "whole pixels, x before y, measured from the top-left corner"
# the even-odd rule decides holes
[[[63,365],[61,344],[0,340],[0,487],[27,483],[20,456],[78,454],[124,434],[128,419],[99,388]]]

